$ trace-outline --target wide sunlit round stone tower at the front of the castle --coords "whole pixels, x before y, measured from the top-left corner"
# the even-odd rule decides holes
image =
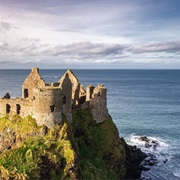
[[[52,127],[62,119],[63,95],[60,88],[34,89],[33,117],[38,125]]]

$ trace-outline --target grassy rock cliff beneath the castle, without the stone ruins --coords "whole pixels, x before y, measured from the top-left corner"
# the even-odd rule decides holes
[[[0,119],[0,179],[124,179],[140,176],[144,154],[119,138],[111,118],[73,110],[48,129],[31,117]]]

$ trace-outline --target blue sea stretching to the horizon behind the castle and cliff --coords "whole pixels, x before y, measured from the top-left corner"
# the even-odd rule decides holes
[[[56,82],[66,70],[40,70]],[[180,179],[180,70],[72,70],[81,84],[107,87],[109,114],[120,137],[156,159],[142,179]],[[0,70],[0,97],[21,97],[30,70]],[[140,137],[156,142],[146,146]]]

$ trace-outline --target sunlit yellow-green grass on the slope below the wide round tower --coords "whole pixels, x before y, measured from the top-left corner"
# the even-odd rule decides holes
[[[16,117],[17,118],[17,117]],[[24,123],[32,120],[30,117],[25,118]],[[14,121],[14,120],[13,120]],[[1,119],[3,122],[3,119]],[[22,119],[16,119],[18,125],[24,126]],[[11,127],[11,121],[4,119],[3,126]],[[22,132],[22,126],[19,129],[13,127],[12,130]],[[76,161],[76,153],[72,148],[71,141],[67,135],[67,124],[57,125],[45,136],[39,136],[38,127],[33,123],[27,124],[27,130],[36,131],[37,135],[28,137],[27,140],[19,144],[16,148],[6,150],[0,154],[0,177],[4,179],[70,179]],[[27,135],[27,134],[26,134]],[[43,171],[45,171],[43,173]]]

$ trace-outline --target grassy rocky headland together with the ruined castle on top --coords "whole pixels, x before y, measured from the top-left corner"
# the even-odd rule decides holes
[[[119,138],[106,93],[85,90],[71,70],[45,82],[33,68],[22,98],[0,99],[0,178],[140,178],[146,154]]]

